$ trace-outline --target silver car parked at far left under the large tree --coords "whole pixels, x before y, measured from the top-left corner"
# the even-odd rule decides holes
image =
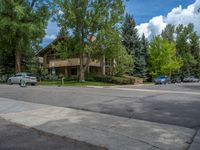
[[[37,84],[37,78],[34,74],[26,72],[20,72],[8,78],[8,84],[20,84],[22,80],[24,80],[26,84]]]

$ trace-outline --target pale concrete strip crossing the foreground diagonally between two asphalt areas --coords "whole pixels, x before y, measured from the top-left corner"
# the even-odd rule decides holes
[[[0,117],[110,150],[185,150],[195,131],[70,108],[0,98]]]

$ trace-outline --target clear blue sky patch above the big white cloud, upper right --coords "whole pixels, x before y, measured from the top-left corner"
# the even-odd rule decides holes
[[[194,2],[195,0],[129,0],[126,2],[126,12],[134,16],[137,24],[141,24],[155,16],[165,16],[179,5],[186,8]]]

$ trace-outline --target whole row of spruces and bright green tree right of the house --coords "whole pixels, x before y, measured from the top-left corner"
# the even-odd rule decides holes
[[[133,76],[150,79],[158,75],[200,77],[200,40],[192,24],[168,24],[150,41],[138,36],[134,18],[126,14],[122,44],[134,61]]]

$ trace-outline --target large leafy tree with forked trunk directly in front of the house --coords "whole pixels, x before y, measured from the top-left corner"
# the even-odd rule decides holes
[[[91,58],[115,57],[123,49],[120,23],[123,0],[54,0],[55,20],[62,35],[70,34],[80,58],[79,80],[84,80]],[[84,63],[86,58],[86,63]]]

